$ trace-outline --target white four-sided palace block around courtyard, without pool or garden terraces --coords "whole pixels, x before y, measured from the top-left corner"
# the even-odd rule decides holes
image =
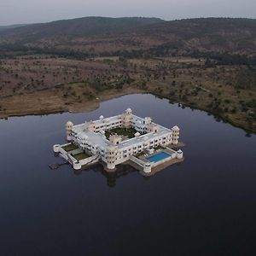
[[[134,128],[137,131],[135,137],[127,139],[120,136],[105,137],[105,131],[113,128]],[[115,166],[129,160],[131,155],[136,155],[143,150],[157,146],[177,144],[179,128],[177,126],[167,129],[155,124],[150,118],[140,118],[132,113],[131,108],[125,113],[90,122],[81,125],[73,125],[67,122],[67,140],[79,144],[79,148],[97,155],[113,170]]]

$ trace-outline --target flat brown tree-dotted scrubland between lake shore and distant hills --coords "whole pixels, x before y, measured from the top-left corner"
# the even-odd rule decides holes
[[[115,96],[147,92],[256,131],[256,68],[203,58],[52,55],[0,60],[0,116],[81,112]]]

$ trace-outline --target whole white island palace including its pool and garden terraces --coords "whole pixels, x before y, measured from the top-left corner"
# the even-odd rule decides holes
[[[100,162],[107,172],[114,172],[117,165],[132,162],[143,173],[150,174],[155,166],[183,160],[183,152],[172,149],[178,146],[179,128],[157,125],[149,117],[133,114],[131,108],[81,125],[68,121],[66,131],[69,143],[55,145],[54,151],[75,170]]]

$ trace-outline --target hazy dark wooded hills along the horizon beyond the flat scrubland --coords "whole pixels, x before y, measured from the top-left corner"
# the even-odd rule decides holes
[[[0,45],[51,53],[112,54],[154,51],[156,55],[228,52],[256,55],[256,20],[239,18],[85,17],[0,30]]]

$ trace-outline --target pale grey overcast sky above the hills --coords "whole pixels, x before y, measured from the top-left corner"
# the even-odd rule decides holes
[[[84,16],[256,18],[256,0],[0,0],[0,26]]]

